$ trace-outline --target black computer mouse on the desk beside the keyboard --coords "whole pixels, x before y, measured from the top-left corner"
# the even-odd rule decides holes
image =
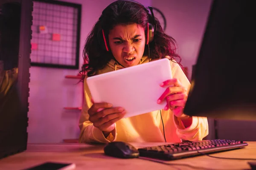
[[[104,147],[104,153],[116,158],[137,158],[139,151],[131,144],[126,142],[110,142]]]

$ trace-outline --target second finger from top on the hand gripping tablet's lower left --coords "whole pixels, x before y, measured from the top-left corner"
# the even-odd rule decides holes
[[[93,122],[93,123],[94,122],[99,122],[99,119],[101,119],[102,117],[107,116],[107,118],[108,118],[109,114],[120,113],[122,111],[124,111],[124,109],[120,108],[120,107],[107,108],[107,109],[104,109],[102,111],[99,111],[97,113],[94,113],[94,114],[90,115],[89,120],[90,120],[90,122]]]

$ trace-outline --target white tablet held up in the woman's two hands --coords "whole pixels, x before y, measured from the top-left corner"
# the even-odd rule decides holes
[[[158,59],[87,78],[93,101],[108,102],[125,109],[125,117],[157,111],[166,102],[157,99],[166,88],[160,83],[172,79],[170,60]]]

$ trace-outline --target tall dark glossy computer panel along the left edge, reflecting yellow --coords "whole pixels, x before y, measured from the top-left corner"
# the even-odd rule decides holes
[[[32,0],[0,0],[0,159],[26,150]]]

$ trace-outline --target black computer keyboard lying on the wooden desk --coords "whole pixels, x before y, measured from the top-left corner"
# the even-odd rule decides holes
[[[175,160],[192,156],[201,156],[204,153],[216,153],[247,146],[243,141],[236,140],[203,140],[199,142],[182,142],[165,144],[153,147],[139,148],[140,156],[163,160]]]

